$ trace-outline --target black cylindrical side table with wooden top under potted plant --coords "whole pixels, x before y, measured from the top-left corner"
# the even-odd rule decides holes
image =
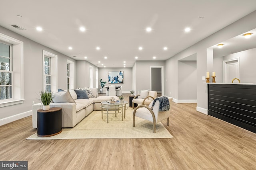
[[[62,131],[62,109],[51,107],[50,110],[37,111],[37,136],[50,137]]]

